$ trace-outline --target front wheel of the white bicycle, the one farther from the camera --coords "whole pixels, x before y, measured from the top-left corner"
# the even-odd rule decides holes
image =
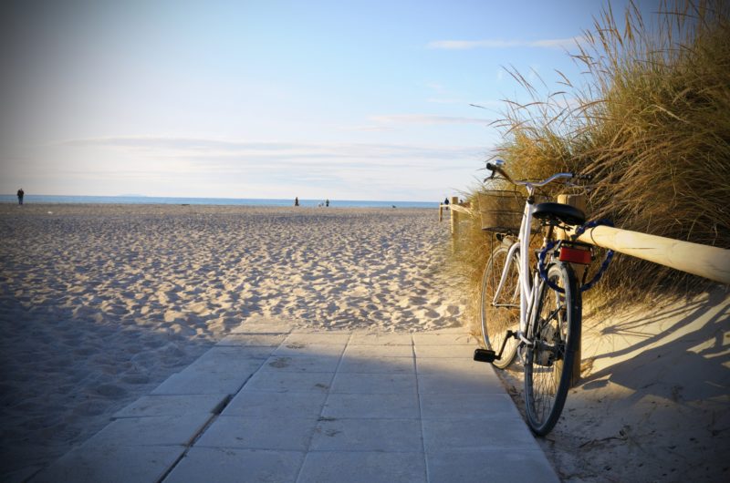
[[[494,293],[505,268],[509,246],[498,246],[485,265],[482,275],[482,291],[479,300],[479,315],[482,324],[482,339],[485,347],[496,353],[502,348],[506,331],[516,331],[519,328],[519,252],[513,254],[509,273],[502,290],[504,296],[494,301]],[[505,345],[505,351],[493,365],[504,369],[515,359],[517,340],[510,338]]]

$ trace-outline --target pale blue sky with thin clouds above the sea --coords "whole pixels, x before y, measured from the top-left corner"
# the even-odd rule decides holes
[[[5,1],[0,193],[443,200],[605,5]]]

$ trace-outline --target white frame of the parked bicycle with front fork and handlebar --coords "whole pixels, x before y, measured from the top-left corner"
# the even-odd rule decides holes
[[[547,180],[542,180],[536,183],[532,183],[529,181],[513,181],[510,180],[512,183],[520,186],[524,186],[527,189],[527,201],[525,202],[525,210],[522,212],[522,223],[519,227],[519,236],[518,240],[513,243],[509,247],[509,252],[507,252],[507,260],[505,263],[505,268],[502,270],[502,277],[499,280],[499,285],[497,286],[495,290],[495,296],[492,300],[492,304],[494,306],[498,306],[499,304],[496,303],[496,300],[499,298],[499,295],[502,293],[502,288],[506,282],[507,273],[509,273],[510,265],[512,264],[512,261],[514,260],[513,256],[517,250],[519,250],[519,266],[518,272],[519,272],[519,331],[517,332],[517,337],[522,341],[524,344],[532,345],[532,342],[527,338],[527,323],[529,321],[529,314],[532,313],[533,307],[537,304],[537,286],[538,286],[538,277],[539,274],[537,271],[532,274],[532,280],[530,280],[530,253],[529,253],[529,246],[530,246],[530,231],[532,231],[532,218],[533,213],[535,212],[535,203],[530,203],[529,200],[534,200],[535,195],[535,189],[539,188],[541,186],[545,186],[548,183],[551,183],[554,180],[558,180],[560,178],[573,178],[572,173],[558,173],[554,174],[553,176],[547,178]],[[520,250],[521,247],[526,247],[525,250]]]

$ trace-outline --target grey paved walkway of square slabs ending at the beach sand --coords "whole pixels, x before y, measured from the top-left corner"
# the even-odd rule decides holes
[[[475,346],[258,318],[32,481],[558,481]]]

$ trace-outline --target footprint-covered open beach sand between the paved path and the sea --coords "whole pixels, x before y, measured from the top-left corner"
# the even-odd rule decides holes
[[[0,204],[3,480],[22,479],[241,322],[460,325],[436,210]]]

